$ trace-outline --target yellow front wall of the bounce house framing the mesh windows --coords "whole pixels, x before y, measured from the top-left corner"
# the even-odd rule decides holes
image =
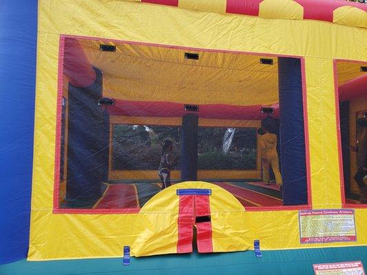
[[[189,2],[200,9],[199,4]],[[280,2],[284,3],[287,18],[301,16],[302,8],[295,1]],[[269,4],[266,0],[260,11],[267,17],[275,17],[266,10]],[[215,10],[222,9],[222,1],[216,1],[216,7]],[[347,17],[341,15],[343,19],[337,20],[347,20]],[[204,182],[171,186],[151,199],[140,212],[54,211],[61,35],[302,58],[310,162],[311,197],[308,199],[312,209],[342,208],[333,60],[367,61],[365,28],[322,21],[205,13],[138,1],[90,0],[85,5],[85,1],[40,0],[28,260],[121,257],[124,245],[131,246],[132,256],[176,253],[179,201],[174,190],[180,186],[213,191],[209,199],[212,248],[216,252],[246,250],[255,239],[260,239],[262,250],[367,245],[366,208],[355,209],[357,241],[301,244],[298,208],[244,211],[227,191]],[[142,93],[149,98],[147,92]],[[162,98],[160,94],[153,96]],[[196,99],[203,102],[203,97]],[[231,102],[226,96],[221,100]],[[256,102],[257,98],[253,96],[251,100]],[[161,234],[157,236],[157,232]],[[149,248],[146,242],[150,243]]]

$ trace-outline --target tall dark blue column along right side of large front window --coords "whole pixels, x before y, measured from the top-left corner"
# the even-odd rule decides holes
[[[285,206],[307,203],[306,150],[300,58],[278,58],[280,158]]]

